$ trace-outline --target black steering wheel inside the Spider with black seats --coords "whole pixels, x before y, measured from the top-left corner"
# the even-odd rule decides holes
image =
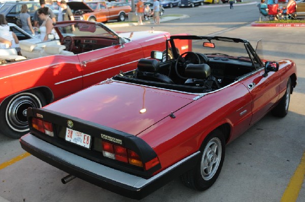
[[[185,57],[183,57],[183,56],[185,56]],[[180,62],[180,64],[178,65],[179,62]],[[177,58],[176,63],[175,63],[175,71],[176,71],[176,74],[178,75],[178,77],[180,77],[182,79],[188,79],[187,77],[181,76],[181,74],[178,71],[178,66],[184,67],[184,70],[185,70],[187,68],[188,64],[200,64],[199,56],[196,53],[190,52],[190,51],[179,55],[179,57]]]

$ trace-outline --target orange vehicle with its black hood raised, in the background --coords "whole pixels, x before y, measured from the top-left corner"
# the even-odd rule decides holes
[[[105,1],[71,1],[67,5],[72,10],[74,19],[97,22],[125,21],[131,11],[128,4],[118,3],[116,6],[108,7]]]

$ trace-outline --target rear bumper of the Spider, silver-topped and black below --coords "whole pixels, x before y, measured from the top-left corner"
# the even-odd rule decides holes
[[[32,134],[21,137],[20,144],[24,150],[60,170],[89,183],[134,199],[141,199],[147,196],[174,177],[192,168],[190,165],[195,165],[200,154],[198,151],[157,175],[149,179],[144,179],[103,166],[60,149]]]

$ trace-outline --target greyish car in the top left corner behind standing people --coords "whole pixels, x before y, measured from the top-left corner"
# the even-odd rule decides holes
[[[33,21],[35,11],[40,8],[39,2],[5,2],[0,8],[0,14],[3,14],[8,22],[17,24],[17,19],[21,12],[22,4],[26,4],[28,14],[31,16],[31,19]],[[21,26],[21,24],[17,25]]]

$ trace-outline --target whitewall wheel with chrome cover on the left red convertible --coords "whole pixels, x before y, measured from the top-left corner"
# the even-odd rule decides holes
[[[1,133],[10,138],[20,138],[28,132],[26,109],[45,105],[46,100],[39,91],[22,92],[7,98],[0,106]]]

